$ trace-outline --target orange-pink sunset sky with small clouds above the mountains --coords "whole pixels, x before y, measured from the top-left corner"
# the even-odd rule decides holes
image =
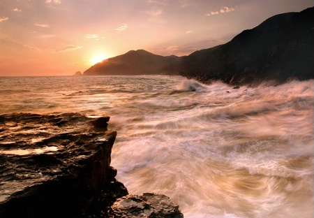
[[[313,0],[0,0],[0,76],[73,75],[144,49],[188,55]]]

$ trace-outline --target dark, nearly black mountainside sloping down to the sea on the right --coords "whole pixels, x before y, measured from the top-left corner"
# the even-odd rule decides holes
[[[202,82],[245,84],[314,77],[314,8],[271,17],[224,45],[200,50],[177,64],[181,75]]]

